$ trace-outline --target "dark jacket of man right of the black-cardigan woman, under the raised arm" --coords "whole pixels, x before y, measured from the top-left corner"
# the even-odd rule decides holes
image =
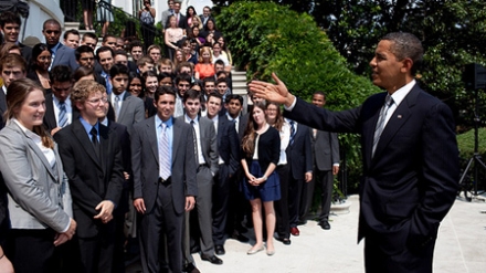
[[[313,171],[313,149],[310,145],[309,128],[297,124],[294,144],[288,143],[287,166],[294,179],[303,180],[307,171]]]

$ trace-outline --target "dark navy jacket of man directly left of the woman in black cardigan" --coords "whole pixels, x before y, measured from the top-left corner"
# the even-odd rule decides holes
[[[218,151],[224,164],[229,166],[230,175],[240,168],[240,141],[234,124],[226,117],[218,118]]]

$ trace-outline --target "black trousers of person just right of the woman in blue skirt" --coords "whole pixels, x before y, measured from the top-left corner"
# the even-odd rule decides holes
[[[288,166],[278,165],[277,174],[281,179],[281,200],[274,202],[276,227],[278,237],[288,239],[290,237],[290,224],[288,220]]]

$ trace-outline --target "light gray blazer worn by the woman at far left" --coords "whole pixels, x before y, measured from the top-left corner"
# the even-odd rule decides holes
[[[54,147],[51,167],[38,145],[14,122],[0,132],[0,171],[8,188],[10,222],[13,229],[52,228],[63,232],[70,216],[63,199],[70,199],[63,183],[63,165]]]

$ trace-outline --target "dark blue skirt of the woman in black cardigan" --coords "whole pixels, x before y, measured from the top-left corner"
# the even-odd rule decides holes
[[[263,177],[263,171],[257,160],[252,161],[250,174],[256,178]],[[247,200],[260,198],[263,202],[275,201],[281,199],[281,180],[275,171],[268,176],[265,182],[258,186],[250,185],[245,177],[241,185],[241,190]]]

